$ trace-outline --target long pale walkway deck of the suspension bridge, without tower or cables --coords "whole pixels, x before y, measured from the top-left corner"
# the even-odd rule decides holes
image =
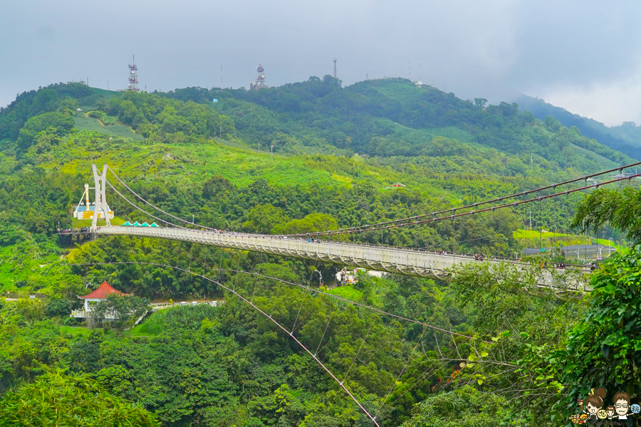
[[[385,246],[369,246],[355,243],[335,241],[316,241],[276,238],[244,233],[215,233],[185,228],[139,228],[110,226],[100,227],[96,233],[101,236],[125,235],[147,238],[163,238],[176,241],[188,241],[204,245],[234,248],[244,251],[272,253],[294,258],[320,260],[328,263],[363,267],[369,270],[385,271],[415,275],[424,278],[449,280],[448,269],[461,263],[479,262],[471,255],[447,253],[441,255],[435,252],[417,251],[410,248],[389,248]],[[486,263],[513,263],[521,265],[517,260],[509,258],[487,258]],[[574,290],[584,290],[585,279],[568,280],[566,270],[541,270],[538,285],[544,287],[563,287]],[[588,270],[585,270],[588,273]]]

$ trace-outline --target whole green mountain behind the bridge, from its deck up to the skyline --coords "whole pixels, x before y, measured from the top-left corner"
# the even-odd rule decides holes
[[[460,100],[404,79],[343,88],[329,76],[258,91],[114,93],[61,83],[3,109],[0,137],[4,226],[45,236],[72,225],[91,160],[117,167],[182,218],[261,232],[312,214],[340,227],[415,216],[632,162],[516,104]],[[405,187],[392,190],[396,182]],[[570,212],[556,203],[540,207],[537,227],[566,231]],[[482,216],[350,238],[508,255],[526,209],[511,212],[509,228]]]

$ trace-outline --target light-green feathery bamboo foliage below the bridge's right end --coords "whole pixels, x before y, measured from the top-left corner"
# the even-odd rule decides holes
[[[535,265],[469,263],[454,269],[450,286],[459,304],[474,313],[474,330],[495,343],[468,357],[459,385],[476,383],[514,408],[522,404],[515,414],[556,425],[549,408],[561,400],[564,385],[551,354],[565,348],[584,304],[538,288],[544,271]]]

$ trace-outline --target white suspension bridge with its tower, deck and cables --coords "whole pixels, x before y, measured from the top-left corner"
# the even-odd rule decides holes
[[[641,162],[637,164],[641,164]],[[627,165],[627,167],[635,166],[637,164]],[[621,172],[623,168],[625,167],[613,169],[612,171],[601,172],[600,174],[613,172],[615,170],[618,170],[619,172]],[[521,263],[520,260],[517,260],[514,258],[491,257],[491,258],[479,259],[478,257],[474,257],[472,255],[462,254],[462,253],[439,253],[439,252],[422,251],[422,250],[417,250],[413,248],[394,248],[390,246],[373,246],[373,245],[349,243],[349,242],[343,242],[343,241],[328,241],[328,240],[325,240],[326,237],[323,238],[323,240],[319,241],[319,240],[316,240],[315,238],[312,238],[311,236],[323,236],[323,235],[330,236],[335,234],[360,233],[363,231],[372,231],[372,230],[377,230],[382,228],[387,229],[387,228],[396,228],[396,227],[402,227],[402,226],[415,226],[420,223],[429,223],[429,222],[441,221],[441,220],[452,220],[452,218],[459,217],[459,216],[473,215],[473,214],[478,214],[484,211],[494,211],[494,209],[501,209],[503,207],[508,207],[508,206],[517,206],[518,204],[531,203],[533,201],[540,202],[541,200],[549,197],[555,197],[561,194],[569,194],[574,191],[582,191],[588,188],[598,187],[599,185],[609,184],[612,182],[617,182],[622,180],[622,179],[613,179],[610,181],[603,182],[601,184],[583,186],[578,189],[571,189],[571,190],[558,192],[555,194],[538,196],[536,199],[528,199],[525,201],[513,201],[510,204],[502,204],[501,206],[493,206],[491,208],[479,209],[479,206],[483,204],[489,204],[493,202],[500,203],[507,199],[516,198],[518,196],[528,196],[528,194],[533,194],[536,191],[542,191],[544,189],[556,189],[556,186],[571,184],[575,181],[579,181],[580,179],[585,179],[585,181],[587,182],[587,179],[591,176],[585,176],[580,179],[573,179],[560,184],[554,184],[553,186],[542,187],[541,189],[534,189],[534,190],[526,191],[520,194],[513,194],[511,196],[501,197],[499,199],[494,199],[492,201],[484,201],[482,203],[477,203],[474,205],[462,206],[459,208],[453,208],[447,211],[440,211],[440,212],[435,212],[432,214],[427,214],[422,216],[414,216],[412,218],[400,218],[394,221],[385,221],[382,223],[369,224],[366,226],[343,228],[340,230],[324,231],[320,233],[309,233],[304,235],[266,236],[266,235],[251,234],[251,233],[236,233],[236,232],[230,232],[230,231],[221,231],[213,228],[208,228],[206,226],[189,223],[189,221],[184,221],[182,218],[178,218],[176,216],[173,216],[172,214],[162,211],[162,209],[151,204],[149,201],[142,198],[142,196],[135,193],[135,191],[130,189],[130,187],[127,186],[127,184],[125,184],[125,182],[122,181],[122,179],[120,179],[118,175],[116,175],[113,172],[113,170],[111,170],[108,167],[108,165],[106,164],[103,165],[102,173],[98,172],[98,169],[95,167],[95,164],[92,165],[92,169],[93,169],[93,176],[95,181],[95,186],[93,187],[93,189],[95,190],[95,206],[93,207],[93,213],[91,215],[92,224],[89,228],[83,231],[80,231],[80,233],[85,233],[91,238],[94,238],[97,236],[134,236],[134,237],[142,237],[142,238],[159,238],[159,239],[174,240],[174,241],[185,241],[185,242],[191,242],[191,243],[198,243],[202,245],[218,246],[221,248],[231,248],[231,249],[237,249],[242,251],[269,253],[273,255],[282,255],[282,256],[301,258],[306,260],[316,260],[316,261],[321,261],[325,263],[335,263],[335,264],[348,265],[353,267],[363,267],[363,268],[368,268],[370,270],[380,270],[388,273],[415,275],[415,276],[424,277],[424,278],[436,278],[439,280],[450,280],[452,278],[452,268],[456,265],[462,265],[467,263],[482,262],[482,263],[489,263],[490,265],[496,265],[496,266],[504,265],[508,263],[508,264],[514,265],[517,269],[518,268],[526,269],[528,267],[531,268],[531,265],[529,263]],[[137,204],[127,199],[127,197],[125,197],[122,193],[120,193],[120,191],[118,191],[118,189],[116,189],[115,186],[113,186],[113,184],[111,184],[107,180],[106,176],[107,176],[108,170],[110,170],[110,172],[114,174],[116,179],[120,181],[120,184],[125,186],[125,188],[129,190],[132,194],[134,194],[134,196],[138,200],[147,204],[152,209],[155,209],[156,211],[160,212],[162,215],[169,216],[170,218],[174,218],[175,220],[182,222],[184,226],[179,226],[177,224],[170,223],[169,221],[167,221],[166,218],[163,219],[163,218],[160,218],[159,216],[155,216],[154,214],[151,214],[150,212],[145,211],[144,209],[140,208],[140,206],[137,206]],[[595,174],[592,176],[598,176],[600,174]],[[641,174],[626,176],[623,179],[631,179],[636,176],[641,176]],[[115,193],[118,194],[118,196],[122,197],[125,201],[127,201],[127,203],[134,206],[135,209],[140,210],[142,213],[150,216],[151,218],[155,218],[157,221],[160,221],[163,224],[167,224],[167,227],[112,226],[110,223],[110,215],[113,215],[113,214],[111,213],[107,203],[107,192],[106,192],[107,186],[110,186],[110,188],[113,189],[113,191],[115,191]],[[86,186],[85,191],[88,191],[88,190],[89,190],[88,186]],[[86,207],[87,209],[89,209],[90,206],[88,201],[88,192],[86,193],[86,195],[87,195]],[[466,210],[466,209],[467,211],[461,212],[462,210]],[[457,213],[457,211],[459,211],[459,213]],[[449,216],[444,216],[444,214],[449,214]],[[105,220],[105,226],[98,226],[98,218],[103,218]],[[126,264],[126,263],[123,263],[123,264]],[[148,263],[148,264],[160,265],[160,264],[152,264],[152,263]],[[310,355],[310,357],[312,357],[313,360],[316,363],[318,363],[320,367],[322,367],[327,372],[327,374],[332,377],[334,381],[336,381],[337,384],[339,384],[339,386],[345,391],[345,393],[347,393],[350,396],[350,399],[352,399],[355,402],[355,404],[358,405],[360,410],[363,411],[363,413],[365,413],[365,415],[368,416],[368,418],[370,418],[372,423],[374,423],[375,426],[380,427],[380,424],[377,422],[377,416],[380,413],[383,406],[387,404],[387,399],[390,397],[394,389],[394,386],[392,386],[390,391],[387,393],[387,396],[385,396],[385,399],[382,399],[382,401],[380,402],[380,405],[377,408],[377,411],[373,414],[370,413],[370,411],[368,411],[360,403],[360,401],[356,398],[356,396],[352,394],[348,386],[345,385],[345,379],[340,380],[338,376],[336,376],[336,374],[333,373],[333,371],[331,371],[329,367],[320,360],[318,356],[318,348],[316,349],[316,352],[313,352],[310,348],[306,347],[306,345],[303,342],[301,342],[296,336],[294,336],[293,332],[296,329],[296,321],[298,321],[298,316],[296,317],[294,326],[291,328],[291,330],[289,330],[288,327],[284,327],[283,325],[281,325],[281,323],[276,321],[271,314],[268,315],[264,310],[261,310],[260,307],[256,306],[254,302],[252,302],[251,297],[248,299],[247,297],[244,297],[238,291],[236,291],[235,286],[234,288],[229,288],[228,286],[225,286],[216,280],[207,278],[206,275],[200,275],[198,273],[192,272],[191,270],[184,270],[177,266],[172,266],[172,265],[164,265],[164,266],[166,268],[174,268],[177,270],[182,270],[192,275],[197,275],[203,278],[204,280],[209,280],[213,283],[216,283],[217,285],[221,286],[228,292],[231,292],[232,294],[236,295],[236,297],[239,297],[239,299],[246,302],[246,304],[251,305],[251,307],[253,307],[254,310],[258,311],[261,315],[269,319],[271,322],[273,322],[276,325],[276,327],[282,330],[283,333],[288,334],[288,336],[291,337],[291,339],[296,341],[296,343],[305,352],[307,352]],[[245,272],[237,272],[237,273],[245,273]],[[569,273],[573,273],[573,274],[569,274]],[[579,273],[579,274],[576,274],[576,273]],[[586,273],[586,274],[583,274],[583,273]],[[570,289],[570,290],[585,290],[585,287],[588,283],[587,273],[589,273],[588,269],[585,269],[583,268],[583,266],[578,266],[578,265],[569,266],[568,269],[541,268],[536,274],[536,281],[539,287],[564,288],[564,289]],[[258,275],[258,273],[254,273],[254,274]],[[273,278],[273,279],[276,279],[276,278]],[[283,280],[280,280],[280,281],[283,281]],[[289,283],[289,284],[306,288],[303,285],[296,284],[296,283]],[[340,300],[343,300],[343,298],[341,297],[328,294],[320,290],[316,290],[314,288],[306,288],[306,289],[309,290],[310,292],[320,292],[320,293],[323,293],[323,295],[327,295],[328,297],[336,297]],[[450,331],[442,330],[438,327],[435,327],[434,325],[429,325],[424,322],[418,322],[416,320],[399,317],[397,315],[393,315],[392,313],[384,312],[375,307],[369,307],[367,305],[355,303],[348,300],[345,300],[345,301],[349,302],[350,304],[359,305],[361,307],[365,307],[367,309],[373,310],[382,315],[387,315],[390,317],[395,317],[400,320],[404,320],[405,322],[418,323],[419,325],[422,325],[422,327],[424,328],[423,333],[427,328],[432,328],[433,330],[439,330],[440,332],[450,334],[452,337],[455,335],[458,335],[459,337],[470,339],[471,342],[474,342],[474,340],[476,340],[476,338],[474,337],[465,336],[463,334],[452,332],[451,330]],[[301,307],[302,307],[302,302],[301,302]],[[300,309],[298,313],[300,314]],[[331,317],[328,321],[328,325],[329,325],[329,322],[331,322]],[[327,327],[325,327],[325,332],[326,331],[327,331]],[[321,337],[320,339],[321,342],[324,337],[325,337],[325,333],[323,332],[323,337]],[[367,337],[365,337],[365,339],[367,339]],[[421,335],[421,339],[422,339],[422,335]],[[419,339],[419,342],[421,339]],[[419,342],[416,343],[416,346],[419,344]],[[491,343],[488,343],[488,344],[491,344]],[[414,349],[416,349],[416,346]],[[320,342],[318,344],[318,347],[320,347]],[[358,353],[356,354],[356,356],[358,356]],[[410,352],[410,357],[408,357],[407,363],[410,362],[411,357],[412,357],[412,354]],[[405,367],[403,367],[403,369],[400,371],[400,374],[398,376],[399,379],[402,376],[405,369],[407,368],[407,363]],[[426,381],[426,379],[429,378],[430,376],[429,374],[427,374],[428,371],[429,369],[426,370],[424,374],[422,374],[419,377],[419,379],[417,379],[416,384],[413,384],[412,387],[416,386],[417,384],[422,384],[422,382]],[[427,378],[423,378],[426,374],[427,374]],[[453,375],[454,374],[452,374],[452,376]],[[410,391],[410,390],[407,390],[407,391]],[[407,393],[407,391],[405,391],[405,393]],[[401,395],[401,397],[403,395]],[[392,402],[392,404],[393,403],[394,402]]]

